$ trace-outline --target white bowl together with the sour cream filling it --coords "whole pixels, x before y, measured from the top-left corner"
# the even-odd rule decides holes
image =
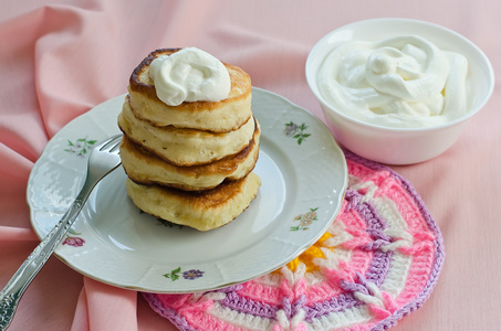
[[[408,19],[361,21],[328,33],[306,60],[306,81],[336,140],[388,164],[446,151],[494,85],[474,44]]]

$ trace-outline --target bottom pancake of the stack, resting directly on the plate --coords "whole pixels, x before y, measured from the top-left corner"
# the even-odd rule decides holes
[[[212,190],[188,192],[159,185],[140,185],[127,178],[127,194],[136,206],[156,217],[209,231],[233,221],[257,196],[261,179],[253,172]]]

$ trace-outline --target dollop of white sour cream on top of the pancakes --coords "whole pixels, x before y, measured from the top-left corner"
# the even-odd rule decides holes
[[[157,97],[169,106],[184,102],[220,102],[231,89],[226,66],[196,47],[158,56],[149,65],[149,77]]]

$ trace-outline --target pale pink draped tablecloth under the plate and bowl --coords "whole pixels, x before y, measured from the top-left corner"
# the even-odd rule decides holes
[[[157,47],[198,46],[239,65],[254,86],[321,119],[304,62],[326,32],[357,20],[427,20],[466,35],[501,77],[501,2],[2,1],[0,3],[0,286],[35,247],[28,175],[72,118],[126,92]],[[59,3],[56,3],[59,2]],[[501,92],[445,154],[393,167],[422,196],[447,252],[438,285],[395,330],[501,330]],[[171,330],[136,292],[87,279],[55,257],[21,300],[10,330]]]

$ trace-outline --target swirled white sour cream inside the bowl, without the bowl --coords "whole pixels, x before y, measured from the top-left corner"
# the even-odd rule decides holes
[[[416,35],[352,41],[326,54],[319,92],[351,118],[392,128],[422,128],[468,111],[468,61]]]

